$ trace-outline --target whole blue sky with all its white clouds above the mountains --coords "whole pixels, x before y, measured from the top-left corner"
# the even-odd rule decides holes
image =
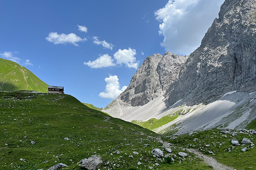
[[[189,55],[224,0],[1,0],[0,57],[105,107],[152,54]]]

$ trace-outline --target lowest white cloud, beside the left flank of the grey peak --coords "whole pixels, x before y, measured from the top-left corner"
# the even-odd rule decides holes
[[[106,77],[105,82],[107,82],[107,85],[105,91],[101,92],[99,96],[107,99],[115,99],[117,96],[119,96],[119,94],[121,94],[127,88],[127,86],[123,86],[122,90],[120,90],[118,80],[119,79],[117,78],[117,76]]]

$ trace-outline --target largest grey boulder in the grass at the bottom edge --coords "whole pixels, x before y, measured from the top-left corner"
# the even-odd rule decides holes
[[[85,170],[96,170],[102,165],[102,158],[97,155],[93,155],[88,159],[81,160],[81,167]]]

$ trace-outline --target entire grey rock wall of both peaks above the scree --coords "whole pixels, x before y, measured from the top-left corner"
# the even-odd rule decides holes
[[[256,91],[256,0],[225,0],[198,49],[147,57],[107,107],[145,105],[163,94],[170,105],[193,105],[235,90]]]

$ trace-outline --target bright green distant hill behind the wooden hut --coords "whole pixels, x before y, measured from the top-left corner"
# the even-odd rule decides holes
[[[30,90],[47,93],[48,85],[25,67],[0,58],[0,91]]]

